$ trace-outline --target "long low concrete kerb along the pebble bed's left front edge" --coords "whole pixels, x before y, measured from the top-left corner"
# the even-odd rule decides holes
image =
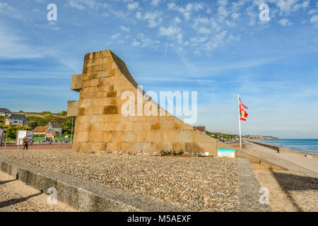
[[[66,174],[47,171],[32,165],[0,157],[0,170],[47,194],[57,189],[57,200],[83,211],[94,212],[180,212],[186,211],[167,203],[128,194]]]

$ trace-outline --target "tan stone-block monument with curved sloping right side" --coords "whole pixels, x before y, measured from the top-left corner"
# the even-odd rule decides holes
[[[161,107],[158,116],[122,115],[124,91],[131,91],[135,97],[137,93],[145,95],[137,85],[124,61],[110,50],[86,54],[83,73],[71,79],[71,88],[79,91],[78,102],[69,102],[68,109],[69,116],[76,117],[73,151],[183,150],[217,155],[217,148],[230,148],[171,114],[160,116],[166,112]],[[136,109],[146,102],[138,106],[136,100]]]

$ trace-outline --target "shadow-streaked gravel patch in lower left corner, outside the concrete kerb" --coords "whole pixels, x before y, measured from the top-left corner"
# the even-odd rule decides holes
[[[47,195],[0,171],[0,212],[73,212],[57,201],[49,205]]]

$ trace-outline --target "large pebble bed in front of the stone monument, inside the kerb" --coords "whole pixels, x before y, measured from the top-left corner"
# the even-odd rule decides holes
[[[237,159],[1,150],[0,156],[193,211],[237,211]]]

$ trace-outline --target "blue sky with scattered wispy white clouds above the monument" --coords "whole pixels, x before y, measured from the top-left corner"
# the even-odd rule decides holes
[[[66,110],[84,54],[111,49],[146,91],[198,91],[210,131],[237,133],[240,93],[243,134],[318,138],[317,37],[313,0],[0,0],[0,107]]]

